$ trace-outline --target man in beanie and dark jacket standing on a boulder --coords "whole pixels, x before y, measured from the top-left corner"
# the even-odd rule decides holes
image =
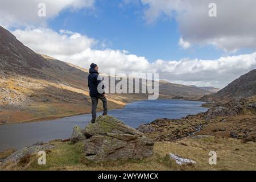
[[[96,109],[98,105],[98,99],[102,101],[103,104],[103,114],[102,115],[107,115],[108,114],[108,101],[106,100],[106,94],[104,92],[104,85],[98,75],[98,66],[97,64],[90,64],[90,69],[89,69],[89,75],[88,75],[88,87],[90,90],[90,98],[92,100],[92,123],[95,122],[95,119],[97,117],[96,114]],[[98,92],[98,85],[101,83],[102,85],[102,93]]]

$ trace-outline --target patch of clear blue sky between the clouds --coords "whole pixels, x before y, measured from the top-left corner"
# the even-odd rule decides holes
[[[125,49],[129,53],[145,56],[150,62],[157,59],[180,60],[184,57],[218,59],[220,56],[250,52],[250,49],[243,49],[227,53],[213,46],[183,49],[177,44],[181,34],[176,20],[163,16],[157,22],[148,24],[143,17],[145,8],[142,3],[96,1],[92,10],[64,10],[48,24],[55,31],[65,29],[79,32],[104,42],[107,48]],[[100,45],[94,48],[102,49]]]

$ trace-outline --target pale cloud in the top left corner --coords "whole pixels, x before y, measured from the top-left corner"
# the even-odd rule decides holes
[[[46,5],[46,17],[39,17],[39,3]],[[94,0],[1,0],[0,24],[4,27],[27,26],[31,24],[45,25],[48,19],[54,18],[62,10],[71,11],[93,7]]]

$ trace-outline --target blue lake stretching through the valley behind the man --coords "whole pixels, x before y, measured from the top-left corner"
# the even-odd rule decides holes
[[[127,104],[123,109],[110,110],[108,114],[136,128],[157,118],[179,119],[188,114],[207,111],[207,108],[201,107],[203,103],[183,100],[137,101]],[[102,104],[101,101],[99,104]],[[84,128],[90,119],[90,114],[82,114],[52,121],[2,125],[0,126],[0,151],[7,148],[20,149],[36,142],[69,138],[73,126],[79,125]]]

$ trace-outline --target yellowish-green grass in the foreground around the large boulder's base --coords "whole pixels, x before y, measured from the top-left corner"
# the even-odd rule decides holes
[[[255,142],[242,143],[232,138],[210,137],[183,139],[177,142],[156,142],[154,155],[142,160],[118,160],[96,164],[82,156],[82,143],[59,143],[47,152],[47,164],[39,165],[38,156],[32,156],[27,170],[256,170]],[[209,151],[217,152],[217,165],[208,163]],[[168,153],[195,160],[195,165],[179,166],[166,161]]]

